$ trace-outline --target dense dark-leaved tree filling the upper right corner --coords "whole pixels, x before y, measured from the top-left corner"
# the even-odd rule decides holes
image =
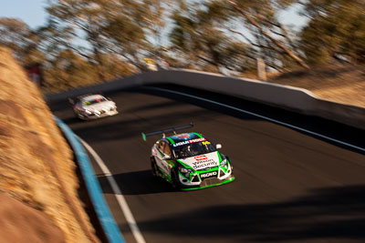
[[[308,63],[328,64],[335,59],[365,63],[363,0],[310,0],[303,14],[310,18],[300,40]]]

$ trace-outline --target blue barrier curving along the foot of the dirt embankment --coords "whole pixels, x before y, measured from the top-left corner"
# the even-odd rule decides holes
[[[72,130],[56,116],[55,120],[58,127],[62,130],[65,137],[68,139],[68,143],[72,147],[75,157],[78,160],[78,167],[80,168],[81,175],[85,180],[86,187],[89,192],[91,203],[95,209],[101,228],[104,230],[106,237],[110,243],[124,243],[125,240],[120,233],[120,229],[117,226],[114,218],[111,216],[110,208],[108,207],[99,185],[98,180],[94,176],[94,170],[91,167],[89,156],[84,147],[78,141],[78,138],[72,132]]]

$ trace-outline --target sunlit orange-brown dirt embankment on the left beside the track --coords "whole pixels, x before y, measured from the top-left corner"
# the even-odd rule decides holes
[[[37,87],[0,46],[0,242],[99,242],[72,151]]]

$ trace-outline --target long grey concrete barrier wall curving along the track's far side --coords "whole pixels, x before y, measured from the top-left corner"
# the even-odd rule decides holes
[[[86,93],[107,92],[131,86],[174,84],[237,96],[278,106],[298,113],[320,116],[352,127],[365,129],[365,108],[321,100],[306,89],[270,84],[253,79],[235,78],[191,70],[162,70],[129,76],[96,86],[48,95],[48,101],[67,99]],[[202,93],[203,96],[203,93]]]

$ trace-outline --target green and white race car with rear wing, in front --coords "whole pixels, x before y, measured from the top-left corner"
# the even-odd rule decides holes
[[[165,137],[166,132],[193,127],[187,125],[162,131],[142,133],[146,136],[163,134],[151,148],[151,170],[154,177],[162,177],[176,189],[192,190],[219,186],[235,180],[233,167],[227,156],[203,135],[190,132]]]

